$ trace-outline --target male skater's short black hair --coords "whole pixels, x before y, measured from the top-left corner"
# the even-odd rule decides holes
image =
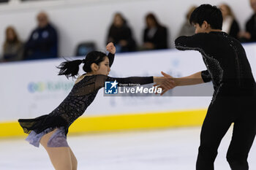
[[[191,14],[189,18],[190,24],[198,23],[202,26],[203,21],[206,20],[213,29],[222,29],[222,12],[216,6],[211,4],[202,4],[197,7]]]

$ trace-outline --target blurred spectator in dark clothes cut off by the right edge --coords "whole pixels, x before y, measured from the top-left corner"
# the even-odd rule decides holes
[[[246,22],[246,31],[238,34],[241,42],[256,42],[256,0],[250,0],[250,4],[254,14]]]

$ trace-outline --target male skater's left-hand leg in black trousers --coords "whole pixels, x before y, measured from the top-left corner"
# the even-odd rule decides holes
[[[197,170],[214,170],[214,161],[217,157],[219,144],[233,121],[228,115],[230,112],[228,108],[228,104],[225,104],[225,98],[219,98],[208,108],[200,134]]]

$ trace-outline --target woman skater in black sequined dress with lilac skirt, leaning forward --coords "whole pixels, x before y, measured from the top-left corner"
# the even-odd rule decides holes
[[[59,107],[48,115],[42,115],[34,119],[20,119],[23,131],[29,136],[26,138],[30,144],[39,147],[39,143],[45,147],[50,161],[56,170],[75,170],[77,169],[77,160],[74,153],[67,144],[67,132],[78,117],[83,115],[86,108],[89,107],[100,88],[104,87],[105,81],[114,81],[129,84],[148,84],[164,81],[156,77],[127,77],[113,78],[108,77],[110,66],[113,64],[116,47],[109,43],[105,53],[93,51],[86,55],[83,60],[65,61],[58,67],[59,75],[66,77],[75,77],[78,74],[79,65],[83,63],[83,70],[86,74],[78,77],[71,92],[61,102]]]

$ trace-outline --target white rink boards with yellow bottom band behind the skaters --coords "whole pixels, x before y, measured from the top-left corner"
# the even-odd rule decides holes
[[[256,76],[256,45],[244,45]],[[1,63],[0,137],[23,136],[18,118],[45,115],[55,109],[74,84],[57,76],[61,59]],[[160,71],[183,77],[206,69],[200,53],[159,50],[117,54],[111,77],[160,76]],[[83,72],[81,72],[83,73]],[[104,96],[94,102],[69,128],[71,134],[128,129],[200,125],[211,102],[211,83],[195,88],[176,88],[166,96]],[[191,93],[192,92],[192,93]],[[4,131],[8,129],[8,131]]]

